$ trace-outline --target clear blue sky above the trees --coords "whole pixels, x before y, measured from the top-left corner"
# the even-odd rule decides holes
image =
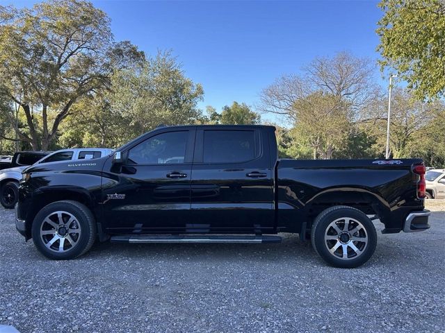
[[[13,2],[36,1],[1,1]],[[172,49],[186,76],[204,87],[201,108],[253,106],[261,89],[316,56],[346,50],[378,58],[378,1],[92,2],[111,17],[116,40],[147,54]]]

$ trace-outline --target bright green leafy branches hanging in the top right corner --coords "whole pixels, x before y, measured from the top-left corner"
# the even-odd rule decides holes
[[[382,0],[378,51],[382,69],[394,69],[418,99],[445,91],[445,2]]]

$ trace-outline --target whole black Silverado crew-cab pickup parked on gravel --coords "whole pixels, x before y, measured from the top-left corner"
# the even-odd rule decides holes
[[[23,172],[16,227],[51,259],[95,239],[128,243],[275,243],[310,239],[350,268],[384,233],[430,228],[422,160],[280,160],[273,126],[156,128],[94,161]]]

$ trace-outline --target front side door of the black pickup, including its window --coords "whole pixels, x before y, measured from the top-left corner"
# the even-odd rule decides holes
[[[124,153],[127,160],[112,174],[115,182],[103,185],[110,231],[184,232],[190,219],[194,139],[195,130],[166,131]]]

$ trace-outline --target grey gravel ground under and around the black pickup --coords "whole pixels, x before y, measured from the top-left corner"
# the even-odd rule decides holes
[[[445,332],[437,207],[430,230],[379,233],[373,258],[349,270],[326,266],[289,234],[270,245],[95,244],[54,262],[0,209],[0,324],[39,333]]]

